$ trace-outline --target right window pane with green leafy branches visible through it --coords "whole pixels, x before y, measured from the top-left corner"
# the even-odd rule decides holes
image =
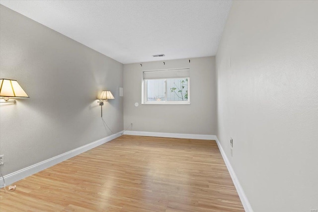
[[[188,101],[188,79],[167,79],[167,101]]]

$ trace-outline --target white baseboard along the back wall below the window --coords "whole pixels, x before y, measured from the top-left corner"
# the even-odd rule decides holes
[[[130,135],[130,136],[151,136],[151,137],[176,138],[176,139],[200,139],[200,140],[216,140],[217,139],[217,137],[214,135],[181,134],[181,133],[125,131],[124,134]]]

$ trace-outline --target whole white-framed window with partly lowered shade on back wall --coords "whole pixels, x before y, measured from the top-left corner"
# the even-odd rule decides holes
[[[144,71],[143,104],[190,104],[189,69]]]

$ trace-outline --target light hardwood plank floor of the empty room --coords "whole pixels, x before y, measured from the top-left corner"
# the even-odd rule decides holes
[[[0,190],[0,212],[243,212],[215,141],[121,136]]]

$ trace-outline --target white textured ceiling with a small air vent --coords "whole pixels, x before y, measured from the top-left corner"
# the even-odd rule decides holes
[[[231,8],[231,0],[0,3],[123,64],[216,55]]]

